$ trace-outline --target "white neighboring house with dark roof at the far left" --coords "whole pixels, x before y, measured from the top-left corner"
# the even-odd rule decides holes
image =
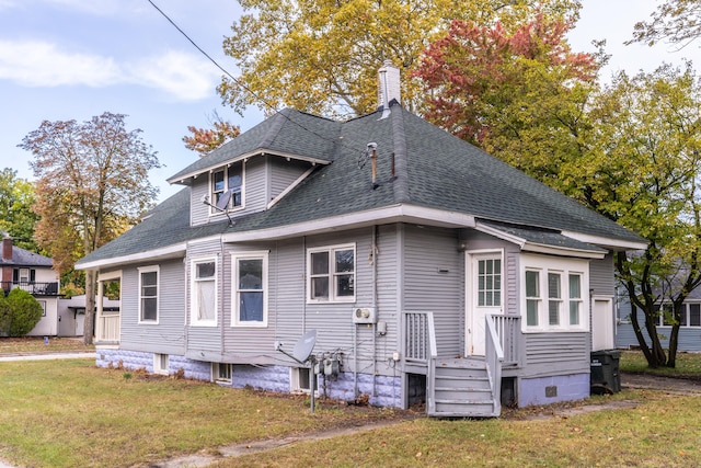
[[[32,294],[44,308],[42,319],[28,336],[58,334],[58,273],[51,259],[13,246],[12,238],[2,239],[2,289],[8,295],[15,287]]]

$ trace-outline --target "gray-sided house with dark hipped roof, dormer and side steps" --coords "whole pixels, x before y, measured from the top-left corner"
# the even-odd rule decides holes
[[[612,252],[644,240],[407,112],[398,75],[368,115],[271,116],[80,260],[122,287],[97,365],[445,416],[588,397]]]

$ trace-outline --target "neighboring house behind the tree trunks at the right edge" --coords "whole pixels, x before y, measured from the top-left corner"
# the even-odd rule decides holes
[[[633,324],[631,323],[631,304],[628,299],[628,293],[619,289],[619,300],[617,304],[617,327],[616,327],[616,346],[622,349],[636,349],[640,346]],[[663,304],[663,309],[670,309],[670,304]],[[647,345],[651,345],[650,334],[645,330],[645,315],[639,308],[637,322],[643,331],[643,336]],[[667,318],[667,320],[666,320]],[[669,346],[669,334],[671,324],[668,321],[669,315],[660,313],[657,319],[657,334],[660,338],[663,347]],[[683,313],[681,315],[681,323],[679,328],[678,351],[701,351],[701,288],[697,287],[689,294],[683,303]]]

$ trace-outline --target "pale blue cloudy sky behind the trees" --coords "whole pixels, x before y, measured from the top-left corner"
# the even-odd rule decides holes
[[[242,10],[235,0],[152,0],[209,56],[237,76],[222,41]],[[701,41],[682,50],[667,44],[623,43],[650,18],[658,0],[583,0],[568,38],[573,50],[594,52],[606,39],[606,80],[618,70],[652,71],[664,61],[692,59],[701,67]],[[701,70],[701,68],[698,68]],[[182,137],[187,126],[210,127],[216,112],[246,130],[263,119],[221,104],[221,70],[204,57],[148,0],[0,0],[0,169],[32,180],[31,153],[18,148],[43,121],[89,121],[125,114],[127,129],[157,151],[151,171],[162,201],[180,190],[165,180],[195,161]]]

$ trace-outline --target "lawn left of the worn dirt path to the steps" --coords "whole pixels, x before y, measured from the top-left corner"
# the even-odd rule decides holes
[[[127,374],[130,378],[127,378]],[[92,359],[0,363],[0,458],[33,467],[135,466],[391,418],[391,410],[102,369]]]

